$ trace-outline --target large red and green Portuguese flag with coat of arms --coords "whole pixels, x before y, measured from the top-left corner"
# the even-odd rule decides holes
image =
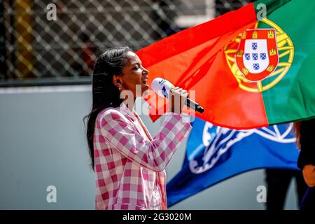
[[[214,125],[249,129],[315,116],[315,1],[260,0],[137,52],[156,77],[195,90]],[[159,116],[148,97],[151,118]]]

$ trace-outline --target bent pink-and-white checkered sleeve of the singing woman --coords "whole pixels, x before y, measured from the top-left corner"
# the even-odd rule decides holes
[[[158,134],[153,137],[153,141],[148,141],[123,113],[115,109],[104,113],[100,125],[102,135],[113,148],[128,159],[156,172],[165,169],[181,140],[192,128],[190,123],[183,122],[179,114],[166,113]]]

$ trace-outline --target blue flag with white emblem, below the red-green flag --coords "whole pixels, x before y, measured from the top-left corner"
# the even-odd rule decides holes
[[[292,123],[230,130],[195,118],[192,125],[183,167],[167,183],[168,207],[249,170],[298,169]]]

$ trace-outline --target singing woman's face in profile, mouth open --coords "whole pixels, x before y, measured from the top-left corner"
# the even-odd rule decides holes
[[[123,68],[123,75],[116,76],[122,83],[122,90],[130,90],[136,97],[141,97],[142,93],[148,90],[149,71],[142,66],[141,60],[134,52],[127,52],[127,62]],[[138,92],[136,86],[138,85]],[[140,92],[141,90],[141,92]]]

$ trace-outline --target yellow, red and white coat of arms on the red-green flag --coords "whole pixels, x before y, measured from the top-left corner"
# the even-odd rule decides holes
[[[261,22],[267,28],[258,28]],[[262,92],[279,83],[290,69],[293,55],[290,37],[266,18],[225,46],[228,66],[239,87],[248,92]]]

